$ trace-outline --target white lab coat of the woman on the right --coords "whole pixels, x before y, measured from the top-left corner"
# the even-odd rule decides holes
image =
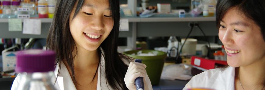
[[[186,84],[188,88],[210,88],[215,90],[235,90],[235,68],[216,68],[195,75]]]

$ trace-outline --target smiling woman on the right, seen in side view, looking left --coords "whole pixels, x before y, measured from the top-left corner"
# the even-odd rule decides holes
[[[265,90],[264,16],[264,0],[218,0],[216,25],[229,67],[194,76],[184,90]]]

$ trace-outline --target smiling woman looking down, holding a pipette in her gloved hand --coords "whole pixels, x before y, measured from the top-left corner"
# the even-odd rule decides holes
[[[135,90],[134,80],[143,77],[152,90],[146,65],[117,52],[119,12],[118,0],[57,0],[47,38],[47,49],[57,54],[55,87]]]

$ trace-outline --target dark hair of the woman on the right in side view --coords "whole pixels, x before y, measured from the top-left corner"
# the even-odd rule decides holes
[[[260,34],[265,41],[265,0],[218,0],[216,6],[216,26],[219,29],[220,22],[225,13],[237,7],[238,13],[253,20],[256,25],[260,27]],[[265,88],[265,77],[263,82],[263,89]]]

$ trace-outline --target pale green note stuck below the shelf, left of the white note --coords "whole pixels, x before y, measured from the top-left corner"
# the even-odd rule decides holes
[[[22,31],[21,19],[8,19],[9,31]]]

